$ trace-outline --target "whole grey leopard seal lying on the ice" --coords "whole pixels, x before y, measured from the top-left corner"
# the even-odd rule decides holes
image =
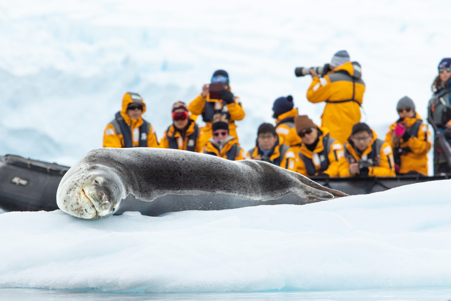
[[[183,210],[331,200],[346,194],[270,163],[229,161],[163,148],[99,148],[69,169],[58,207],[94,220],[125,211],[158,216]]]

